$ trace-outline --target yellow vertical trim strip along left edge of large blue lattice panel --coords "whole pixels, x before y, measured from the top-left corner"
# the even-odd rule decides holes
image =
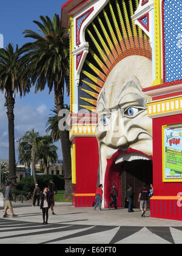
[[[161,63],[162,63],[162,49],[161,49],[161,1],[154,0],[154,30],[155,30],[155,80],[152,85],[163,84]]]

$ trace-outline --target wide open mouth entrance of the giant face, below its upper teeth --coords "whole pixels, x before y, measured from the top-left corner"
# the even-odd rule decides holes
[[[129,160],[128,160],[129,159]],[[143,186],[146,183],[147,188],[153,180],[152,160],[141,154],[133,153],[130,155],[119,155],[108,161],[109,168],[105,175],[104,188],[104,207],[107,208],[110,204],[111,185],[114,183],[118,191],[117,207],[127,207],[126,193],[127,186],[132,185],[134,195],[133,207],[140,208],[138,196]]]

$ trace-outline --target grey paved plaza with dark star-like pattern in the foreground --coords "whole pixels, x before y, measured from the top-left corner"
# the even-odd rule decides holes
[[[182,221],[141,217],[140,209],[75,208],[56,203],[49,224],[42,225],[42,213],[31,202],[13,202],[18,218],[2,218],[0,208],[0,244],[178,244],[182,243]],[[10,211],[8,210],[8,214]]]

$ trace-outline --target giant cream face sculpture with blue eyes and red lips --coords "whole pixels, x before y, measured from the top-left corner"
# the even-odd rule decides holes
[[[146,108],[150,98],[142,91],[151,84],[151,60],[132,55],[117,63],[99,93],[96,138],[103,207],[110,200],[110,185],[120,183],[121,162],[152,157],[152,119]]]

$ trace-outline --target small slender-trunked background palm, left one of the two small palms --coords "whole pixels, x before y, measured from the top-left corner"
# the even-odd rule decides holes
[[[26,145],[26,148],[31,148],[32,173],[35,184],[37,183],[35,165],[38,160],[39,140],[39,133],[35,132],[34,129],[25,132],[24,136],[19,139],[19,149],[21,149],[21,147],[23,148],[23,145]]]

